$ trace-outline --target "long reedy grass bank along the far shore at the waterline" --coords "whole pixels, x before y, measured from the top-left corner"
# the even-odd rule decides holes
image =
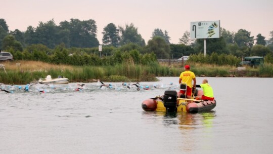
[[[123,63],[114,66],[71,66],[56,65],[40,61],[4,62],[5,69],[0,69],[0,83],[27,84],[51,75],[57,78],[62,75],[70,82],[93,82],[100,79],[107,82],[136,82],[156,81],[155,76],[179,76],[184,69],[181,67],[160,66],[157,63],[135,65]],[[235,66],[217,66],[191,63],[191,70],[197,76],[245,76],[245,77],[273,77],[273,65],[265,64],[258,68],[247,67],[238,71]]]

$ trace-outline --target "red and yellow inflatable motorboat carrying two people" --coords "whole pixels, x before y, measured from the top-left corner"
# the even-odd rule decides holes
[[[195,96],[202,96],[203,90],[197,90]],[[178,97],[179,96],[179,97]],[[167,111],[167,112],[204,112],[210,111],[216,106],[216,100],[196,100],[183,98],[175,90],[165,91],[163,96],[146,99],[142,102],[145,111]]]

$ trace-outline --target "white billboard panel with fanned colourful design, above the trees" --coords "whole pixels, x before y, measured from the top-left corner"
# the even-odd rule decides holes
[[[191,38],[219,38],[220,20],[191,22]]]

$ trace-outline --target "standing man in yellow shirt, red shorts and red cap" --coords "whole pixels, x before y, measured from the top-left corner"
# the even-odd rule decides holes
[[[194,72],[190,71],[190,65],[185,65],[184,66],[185,71],[181,72],[179,76],[179,84],[185,83],[187,84],[187,98],[191,98],[192,96],[192,88],[195,88],[196,86],[196,79],[195,79],[195,74]],[[194,81],[193,86],[192,86],[192,81]],[[185,91],[180,90],[180,94],[185,94]]]

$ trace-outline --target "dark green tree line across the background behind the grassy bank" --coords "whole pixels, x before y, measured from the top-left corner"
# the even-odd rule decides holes
[[[220,38],[206,40],[206,53],[208,55],[216,53],[217,55],[232,55],[238,58],[267,56],[269,57],[267,59],[270,59],[273,55],[273,31],[270,32],[270,39],[267,41],[261,34],[254,38],[254,36],[251,36],[251,32],[245,29],[230,32],[221,28],[220,32]],[[191,39],[189,31],[186,31],[179,38],[179,44],[170,44],[171,37],[168,36],[168,32],[156,28],[152,32],[151,40],[148,41],[147,45],[138,32],[138,28],[132,23],[126,24],[125,27],[117,27],[115,24],[109,23],[104,27],[102,33],[102,59],[108,56],[113,57],[118,52],[125,54],[131,51],[137,51],[141,56],[145,54],[155,55],[157,59],[177,59],[185,55],[204,53],[203,40]],[[0,19],[0,48],[14,53],[14,59],[31,59],[32,56],[33,60],[50,61],[54,59],[54,62],[62,61],[62,59],[58,60],[58,58],[61,58],[60,56],[56,58],[56,55],[60,54],[56,52],[59,52],[61,47],[60,52],[63,52],[62,54],[74,54],[69,57],[85,56],[85,59],[78,58],[78,62],[71,62],[72,64],[77,63],[76,65],[85,65],[86,63],[93,63],[86,62],[88,58],[93,57],[94,59],[95,55],[99,55],[98,46],[97,25],[93,19],[70,19],[70,21],[60,22],[59,25],[55,24],[52,19],[48,22],[39,22],[37,27],[28,26],[26,31],[18,29],[10,31],[5,19]],[[53,58],[54,56],[55,58]],[[67,60],[74,61],[68,58],[65,59],[66,63]],[[101,63],[104,63],[104,61],[109,60],[104,59]],[[136,61],[136,63],[139,62]]]

